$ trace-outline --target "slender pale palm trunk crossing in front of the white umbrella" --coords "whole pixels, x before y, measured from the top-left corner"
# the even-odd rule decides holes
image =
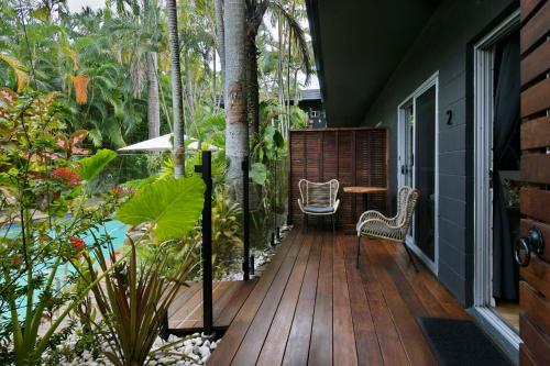
[[[170,84],[172,108],[174,114],[174,176],[185,174],[185,118],[183,106],[182,69],[179,65],[179,40],[177,34],[177,4],[176,0],[166,1],[168,41],[170,51]]]

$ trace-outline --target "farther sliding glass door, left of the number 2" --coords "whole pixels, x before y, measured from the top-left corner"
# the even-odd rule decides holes
[[[407,244],[437,271],[438,75],[399,106],[399,186],[420,191]]]

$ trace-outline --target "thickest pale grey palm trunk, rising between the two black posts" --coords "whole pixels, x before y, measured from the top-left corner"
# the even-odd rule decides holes
[[[244,1],[226,0],[226,156],[227,184],[234,188],[242,180],[241,163],[249,155],[245,100]]]

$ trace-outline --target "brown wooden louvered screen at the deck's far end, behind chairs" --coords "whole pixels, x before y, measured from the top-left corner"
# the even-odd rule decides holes
[[[289,214],[302,223],[298,181],[340,181],[338,224],[352,229],[362,212],[362,197],[344,193],[343,187],[388,187],[388,133],[386,129],[322,129],[290,132]],[[369,209],[387,212],[388,193],[370,195]]]

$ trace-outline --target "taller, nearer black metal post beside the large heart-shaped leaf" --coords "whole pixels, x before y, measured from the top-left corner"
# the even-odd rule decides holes
[[[195,166],[206,185],[202,208],[202,324],[204,334],[213,333],[212,317],[212,153],[202,152],[202,165]]]

